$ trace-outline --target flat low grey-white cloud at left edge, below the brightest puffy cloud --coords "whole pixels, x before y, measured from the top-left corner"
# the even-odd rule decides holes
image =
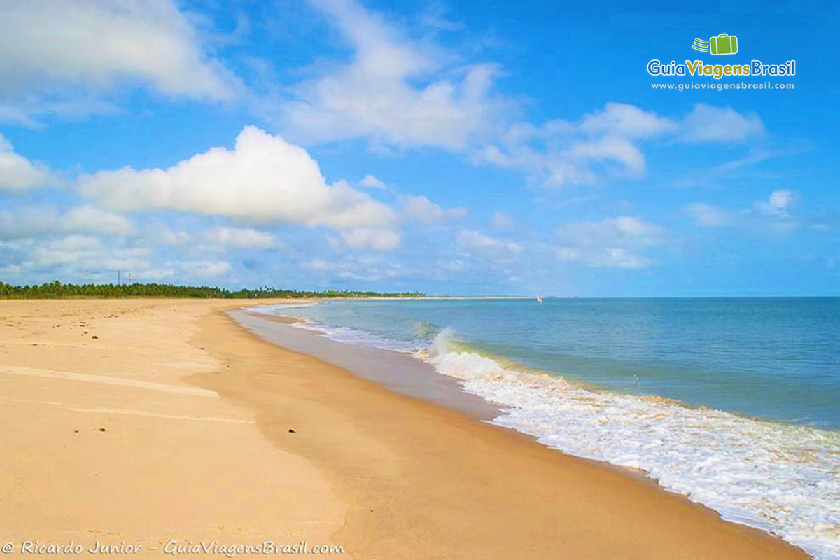
[[[0,210],[0,238],[33,238],[55,233],[124,236],[134,233],[134,226],[123,216],[91,206],[71,207],[65,212],[53,207]]]

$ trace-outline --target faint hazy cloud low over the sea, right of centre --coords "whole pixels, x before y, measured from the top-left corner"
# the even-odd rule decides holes
[[[559,260],[597,268],[646,268],[654,260],[641,254],[640,249],[666,242],[662,228],[633,216],[567,222],[559,226],[557,235],[563,243],[555,250]]]

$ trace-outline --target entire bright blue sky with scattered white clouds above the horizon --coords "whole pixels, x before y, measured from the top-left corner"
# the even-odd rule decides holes
[[[837,295],[838,9],[29,2],[0,279]],[[736,55],[690,49],[738,36]],[[654,77],[648,61],[795,76]],[[792,84],[677,90],[653,84]]]

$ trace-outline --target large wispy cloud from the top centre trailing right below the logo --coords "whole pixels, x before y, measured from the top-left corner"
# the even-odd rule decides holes
[[[433,35],[412,39],[352,0],[312,3],[352,51],[349,60],[313,67],[317,77],[292,86],[293,100],[266,109],[304,142],[362,138],[382,151],[437,146],[564,186],[643,175],[642,144],[653,139],[741,141],[764,132],[754,114],[704,103],[685,118],[608,102],[576,122],[513,122],[519,103],[494,90],[496,65],[454,68],[459,55],[434,43]]]

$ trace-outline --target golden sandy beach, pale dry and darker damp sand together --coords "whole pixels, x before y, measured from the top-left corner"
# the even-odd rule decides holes
[[[266,541],[383,560],[807,557],[265,343],[224,312],[241,306],[0,302],[0,540],[137,557]]]

